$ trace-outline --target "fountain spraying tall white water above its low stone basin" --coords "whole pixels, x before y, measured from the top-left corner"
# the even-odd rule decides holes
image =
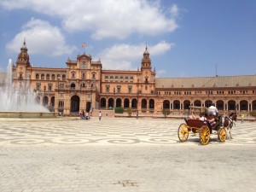
[[[13,84],[11,59],[8,64],[8,73],[4,76],[0,87],[0,118],[51,118],[56,116],[55,113],[50,113],[48,108],[37,102],[37,93],[32,91],[30,84],[20,83],[19,86]]]

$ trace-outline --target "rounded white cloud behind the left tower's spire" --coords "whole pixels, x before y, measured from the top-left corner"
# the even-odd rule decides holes
[[[26,44],[31,55],[58,56],[70,54],[76,48],[69,46],[61,30],[56,26],[51,26],[44,20],[31,19],[24,26],[15,38],[6,45],[10,52],[18,53],[26,38]]]

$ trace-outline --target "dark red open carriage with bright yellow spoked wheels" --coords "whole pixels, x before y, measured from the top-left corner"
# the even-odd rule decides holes
[[[201,107],[189,107],[190,112],[193,110],[201,111],[201,113],[206,113],[207,108]],[[207,145],[210,141],[210,135],[213,131],[217,131],[218,140],[224,142],[227,138],[227,131],[221,123],[217,123],[215,126],[211,126],[209,122],[202,121],[201,119],[184,119],[185,123],[179,125],[177,130],[177,137],[181,142],[187,141],[189,133],[194,134],[199,133],[200,143],[202,145]],[[220,119],[219,119],[220,120]]]

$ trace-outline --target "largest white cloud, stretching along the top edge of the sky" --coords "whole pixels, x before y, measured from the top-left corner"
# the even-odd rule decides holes
[[[89,31],[91,37],[127,38],[132,33],[157,35],[174,32],[179,9],[163,11],[159,1],[148,0],[3,0],[5,9],[32,9],[58,17],[68,32]]]

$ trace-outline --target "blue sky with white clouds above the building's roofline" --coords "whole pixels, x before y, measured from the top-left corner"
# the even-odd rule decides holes
[[[26,38],[35,67],[84,53],[137,70],[146,43],[158,77],[256,74],[255,0],[0,0],[0,70]]]

